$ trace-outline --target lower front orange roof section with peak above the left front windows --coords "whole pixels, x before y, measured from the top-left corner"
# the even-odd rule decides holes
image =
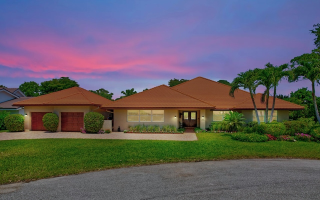
[[[118,99],[103,108],[214,108],[214,105],[193,98],[164,84]]]

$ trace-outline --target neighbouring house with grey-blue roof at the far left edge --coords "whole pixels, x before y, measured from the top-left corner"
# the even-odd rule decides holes
[[[9,111],[11,114],[24,114],[23,107],[13,106],[12,103],[32,98],[25,96],[19,88],[0,87],[0,111]]]

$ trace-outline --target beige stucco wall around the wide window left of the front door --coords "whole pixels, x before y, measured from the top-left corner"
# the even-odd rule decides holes
[[[164,122],[128,122],[126,118],[126,109],[114,109],[113,110],[113,131],[117,131],[120,126],[120,130],[128,129],[129,125],[144,124],[144,125],[174,125],[179,127],[179,112],[177,109],[165,109],[164,110]],[[174,117],[176,116],[176,117]]]

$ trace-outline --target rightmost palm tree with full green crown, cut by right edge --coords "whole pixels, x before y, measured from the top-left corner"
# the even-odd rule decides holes
[[[318,122],[320,123],[320,116],[318,107],[316,104],[316,96],[314,83],[317,82],[320,84],[320,53],[312,51],[312,53],[304,53],[300,56],[294,57],[291,59],[291,67],[293,68],[293,75],[295,80],[298,80],[298,77],[302,79],[308,79],[311,81],[312,86],[312,99],[315,110],[315,116]],[[295,67],[295,65],[297,65]]]

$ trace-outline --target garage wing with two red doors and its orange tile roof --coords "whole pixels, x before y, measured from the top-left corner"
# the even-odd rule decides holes
[[[53,112],[59,117],[57,131],[80,131],[84,127],[83,117],[87,112],[94,111],[107,119],[111,112],[101,109],[101,105],[111,100],[92,93],[81,87],[44,94],[31,99],[13,103],[13,106],[24,107],[24,130],[46,130],[42,117],[47,112]],[[104,121],[104,129],[112,129],[112,120]]]

